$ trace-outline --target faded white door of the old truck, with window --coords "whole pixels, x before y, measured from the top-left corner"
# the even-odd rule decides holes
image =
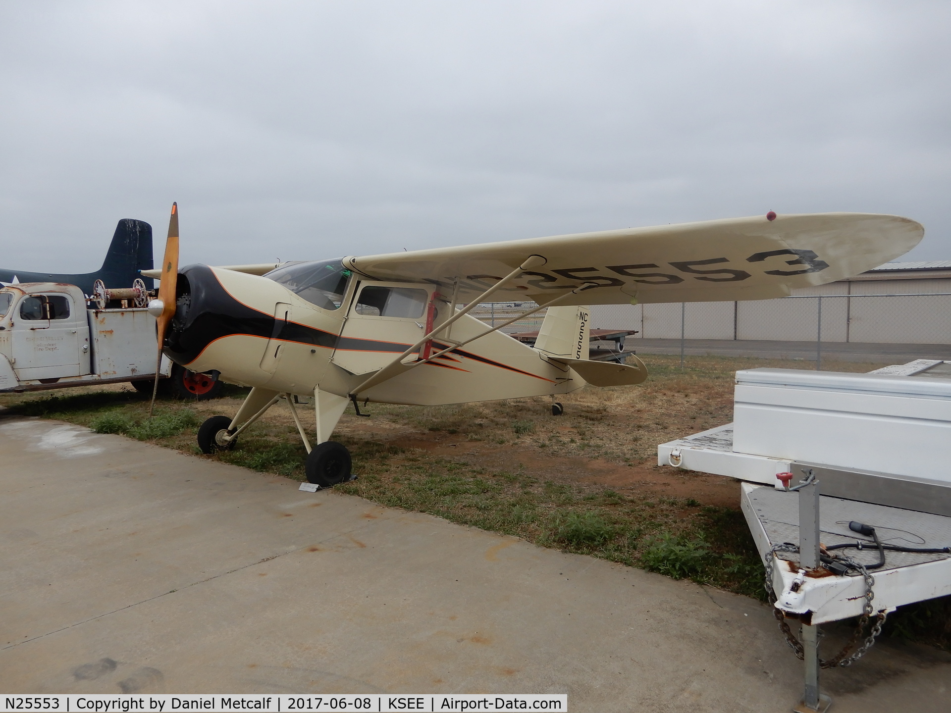
[[[82,325],[77,324],[82,318]],[[88,363],[82,347],[86,313],[76,309],[69,295],[26,295],[12,315],[10,330],[13,370],[21,381],[80,376]],[[83,358],[85,357],[85,359]]]

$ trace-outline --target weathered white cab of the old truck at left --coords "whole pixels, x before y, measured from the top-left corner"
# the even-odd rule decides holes
[[[0,389],[90,373],[86,296],[75,285],[31,282],[0,289]],[[7,363],[3,363],[3,362]]]

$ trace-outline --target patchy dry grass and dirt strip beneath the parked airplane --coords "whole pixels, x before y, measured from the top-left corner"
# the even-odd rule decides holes
[[[656,446],[728,423],[733,374],[758,366],[811,368],[806,361],[741,357],[646,357],[636,387],[551,399],[521,398],[437,407],[370,404],[370,418],[344,414],[334,439],[353,453],[359,479],[339,486],[381,505],[424,511],[541,546],[591,554],[762,598],[762,566],[730,479],[654,465]],[[879,364],[826,363],[867,372]],[[129,387],[3,395],[14,413],[55,417],[198,453],[195,424],[234,414],[246,391],[214,401],[164,402],[146,424],[147,400]],[[109,426],[108,424],[118,424]],[[311,431],[311,435],[313,435]],[[207,458],[303,479],[305,451],[286,408],[275,407],[234,451]],[[951,646],[948,598],[905,607],[889,630]]]

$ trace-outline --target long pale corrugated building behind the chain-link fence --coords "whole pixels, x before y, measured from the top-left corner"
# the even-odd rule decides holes
[[[822,299],[823,341],[951,344],[951,260],[887,262],[851,279],[794,290]],[[863,297],[908,295],[912,297]],[[819,299],[688,302],[688,339],[815,341]],[[629,338],[679,339],[681,305],[592,306],[592,328],[636,329]]]

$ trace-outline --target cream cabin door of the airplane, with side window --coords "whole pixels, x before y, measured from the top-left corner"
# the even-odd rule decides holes
[[[425,332],[434,286],[361,282],[332,361],[351,374],[386,366]]]

